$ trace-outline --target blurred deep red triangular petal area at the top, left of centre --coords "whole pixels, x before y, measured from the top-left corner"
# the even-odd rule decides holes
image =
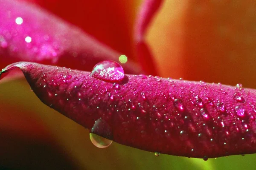
[[[132,35],[137,1],[35,0],[35,3],[136,60]]]

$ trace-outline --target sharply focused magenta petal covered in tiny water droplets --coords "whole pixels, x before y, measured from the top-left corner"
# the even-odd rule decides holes
[[[16,67],[46,105],[89,130],[98,122],[92,132],[120,144],[204,159],[256,153],[256,90],[144,75],[125,75],[116,88],[90,72],[30,62],[1,74]]]

